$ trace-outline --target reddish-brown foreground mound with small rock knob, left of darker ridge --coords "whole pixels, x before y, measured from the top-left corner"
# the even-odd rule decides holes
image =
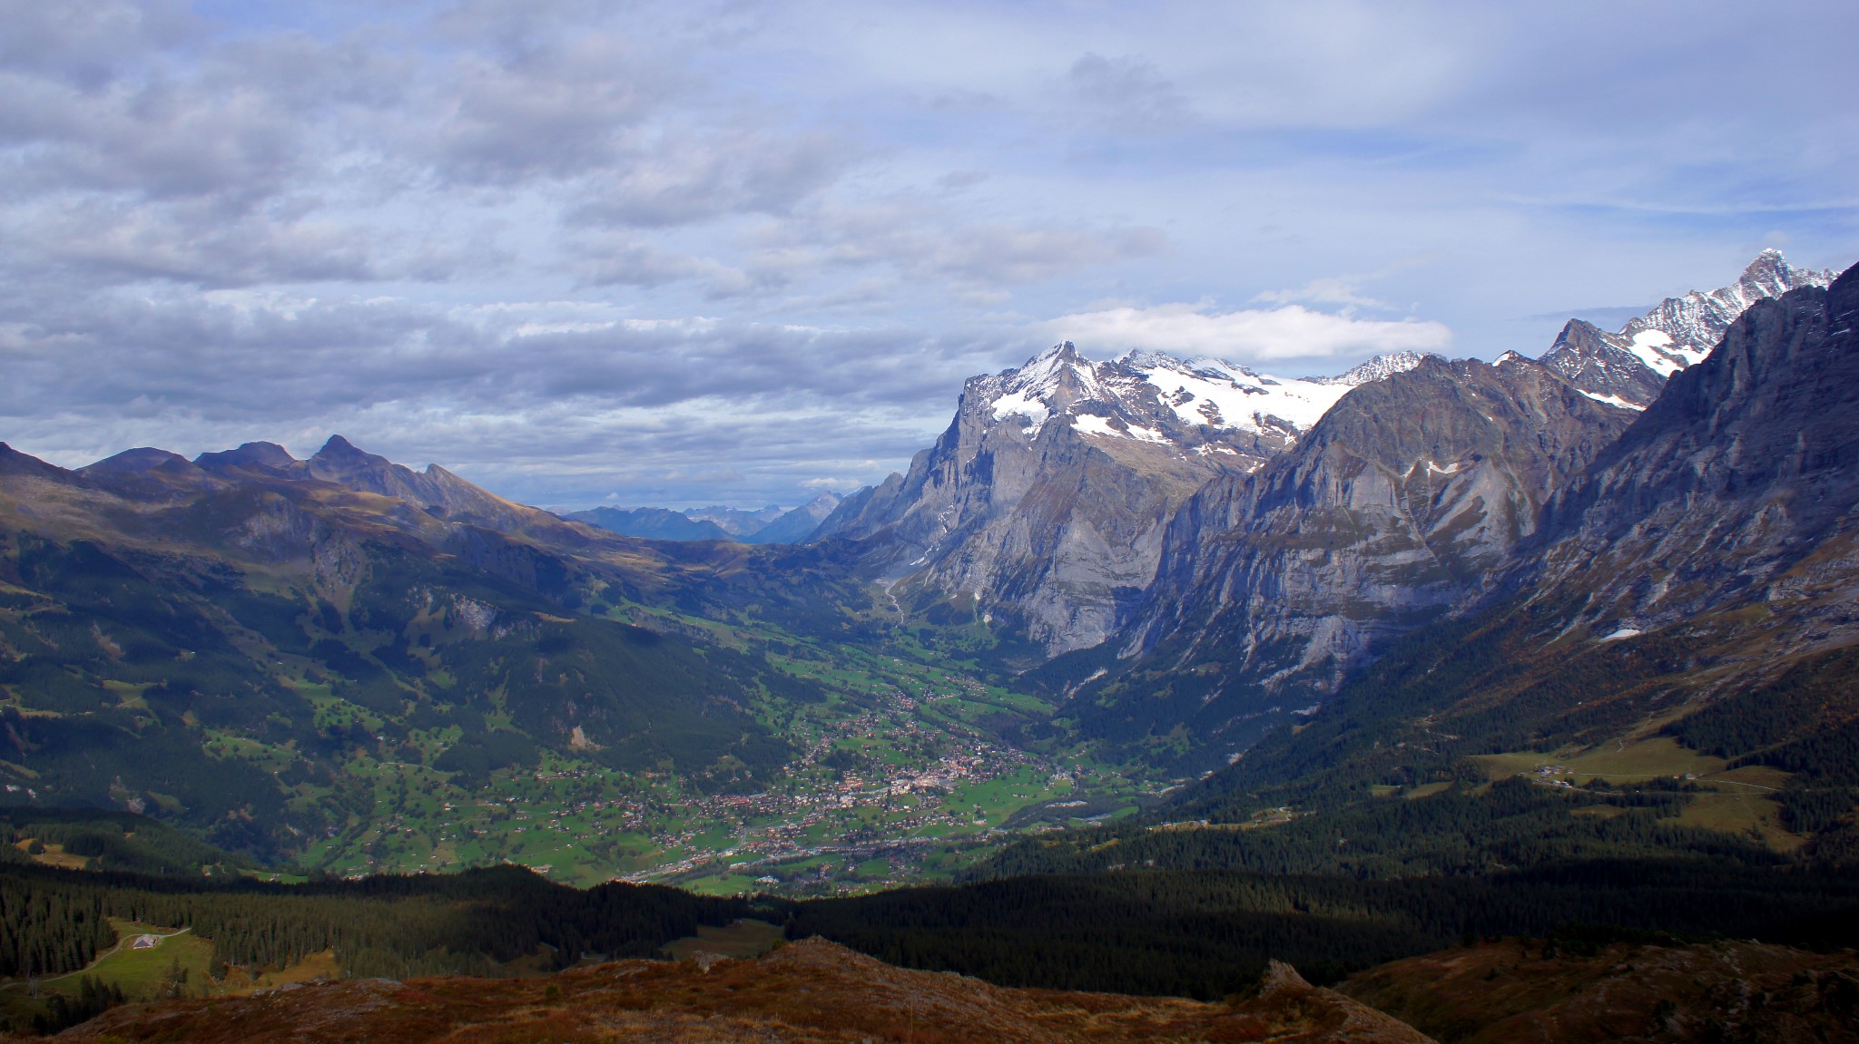
[[[61,1040],[677,1044],[1138,1042],[1426,1044],[1430,1037],[1273,964],[1249,998],[1201,1003],[1013,990],[911,972],[824,940],[755,960],[623,960],[548,979],[363,979],[123,1007]]]

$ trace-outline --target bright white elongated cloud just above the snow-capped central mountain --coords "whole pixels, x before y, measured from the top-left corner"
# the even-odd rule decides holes
[[[1355,320],[1301,305],[1270,310],[1205,312],[1195,305],[1104,308],[1039,323],[1054,340],[1099,351],[1149,349],[1236,362],[1351,359],[1383,351],[1446,351],[1452,331],[1433,321]]]

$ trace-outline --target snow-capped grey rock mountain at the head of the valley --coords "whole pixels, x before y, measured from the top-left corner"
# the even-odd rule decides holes
[[[998,622],[1047,654],[1093,646],[1154,576],[1175,509],[1294,446],[1350,386],[1153,353],[1091,362],[1065,342],[970,379],[937,444],[816,537],[861,541],[903,607]]]

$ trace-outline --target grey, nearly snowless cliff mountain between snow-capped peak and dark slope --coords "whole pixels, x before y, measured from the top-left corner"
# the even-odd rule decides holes
[[[1632,416],[1530,360],[1363,385],[1180,509],[1125,654],[1195,678],[1223,717],[1316,702],[1374,639],[1474,600]]]

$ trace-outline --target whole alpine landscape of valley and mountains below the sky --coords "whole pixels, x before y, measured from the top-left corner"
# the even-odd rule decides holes
[[[1065,342],[792,511],[558,516],[342,437],[0,444],[0,973],[182,927],[193,996],[820,936],[238,1003],[465,1027],[392,1029],[433,1040],[915,1040],[909,998],[948,1040],[1852,1040],[1855,321],[1859,268],[1764,251],[1539,359]],[[17,1025],[121,998],[86,983]],[[82,1033],[219,1033],[188,1003]]]

